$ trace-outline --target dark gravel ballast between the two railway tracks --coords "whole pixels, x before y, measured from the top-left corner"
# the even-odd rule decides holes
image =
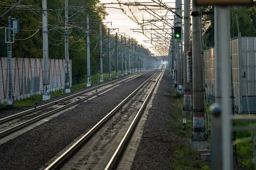
[[[81,102],[48,122],[0,145],[0,167],[5,170],[35,170],[85,133],[156,71],[144,74]]]

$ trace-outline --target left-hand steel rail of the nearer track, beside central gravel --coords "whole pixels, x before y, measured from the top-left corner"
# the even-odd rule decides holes
[[[61,156],[59,156],[55,161],[49,164],[44,170],[55,170],[60,169],[76,152],[88,142],[94,134],[99,131],[99,129],[113,116],[116,111],[119,110],[129,99],[131,99],[134,94],[136,94],[148,81],[150,81],[154,76],[156,76],[160,71],[153,74],[148,78],[142,85],[140,85],[136,90],[134,90],[128,97],[126,97],[122,102],[119,103],[111,112],[109,112],[103,119],[101,119],[96,125],[94,125],[84,136],[82,136],[75,144],[73,144],[68,150],[66,150]]]

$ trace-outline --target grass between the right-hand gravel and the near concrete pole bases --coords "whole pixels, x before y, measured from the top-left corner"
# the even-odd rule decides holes
[[[175,141],[172,142],[171,170],[209,170],[209,163],[201,161],[197,150],[190,148],[189,139],[192,136],[192,115],[186,116],[186,127],[183,127],[183,97],[178,97],[174,92],[175,100],[171,105],[172,119],[168,127],[175,133]],[[185,140],[184,140],[185,139]],[[183,141],[182,141],[183,140]]]

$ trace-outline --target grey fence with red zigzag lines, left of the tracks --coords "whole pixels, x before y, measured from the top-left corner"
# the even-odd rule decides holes
[[[12,91],[15,100],[43,93],[42,60],[12,58]],[[64,62],[63,59],[49,59],[50,91],[62,90],[65,87]],[[0,104],[7,102],[8,98],[7,63],[7,57],[0,58]],[[70,73],[70,85],[72,85],[72,73]]]

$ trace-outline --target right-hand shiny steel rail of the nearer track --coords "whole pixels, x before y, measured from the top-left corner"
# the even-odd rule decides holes
[[[149,92],[148,96],[146,97],[145,101],[143,102],[142,106],[140,107],[140,110],[137,112],[135,118],[131,122],[131,125],[129,126],[128,130],[125,133],[125,136],[122,138],[122,141],[116,148],[116,151],[114,152],[113,156],[111,157],[110,161],[108,162],[108,164],[104,170],[112,170],[113,168],[115,168],[118,165],[120,159],[122,158],[122,154],[125,152],[125,149],[126,149],[127,145],[129,144],[130,139],[134,133],[134,130],[136,129],[137,124],[140,121],[140,117],[143,114],[143,111],[144,111],[146,105],[148,104],[149,100],[151,99],[154,89],[156,88],[157,83],[158,83],[160,77],[162,76],[163,72],[164,71],[162,71],[162,73],[157,78],[156,82],[154,83],[153,88],[151,88],[151,91]]]

